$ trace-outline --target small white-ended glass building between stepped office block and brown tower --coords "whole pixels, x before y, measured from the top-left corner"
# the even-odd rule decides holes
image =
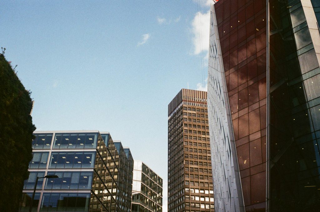
[[[132,212],[162,212],[163,180],[142,161],[134,160]]]

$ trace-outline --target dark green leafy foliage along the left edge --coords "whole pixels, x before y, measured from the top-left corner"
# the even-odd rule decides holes
[[[4,50],[2,51],[4,52]],[[32,100],[0,54],[0,210],[18,211],[23,181],[32,159]]]

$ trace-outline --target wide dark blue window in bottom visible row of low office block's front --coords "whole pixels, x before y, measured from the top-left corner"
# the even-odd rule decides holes
[[[90,193],[44,193],[40,211],[89,211]]]

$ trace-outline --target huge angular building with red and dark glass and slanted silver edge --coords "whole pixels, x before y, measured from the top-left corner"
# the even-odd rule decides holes
[[[211,7],[208,111],[217,211],[320,208],[319,0]]]

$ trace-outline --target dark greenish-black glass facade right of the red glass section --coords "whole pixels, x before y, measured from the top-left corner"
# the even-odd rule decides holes
[[[312,3],[319,6],[319,1]],[[270,209],[318,211],[320,69],[315,43],[299,0],[270,0],[269,8]]]

